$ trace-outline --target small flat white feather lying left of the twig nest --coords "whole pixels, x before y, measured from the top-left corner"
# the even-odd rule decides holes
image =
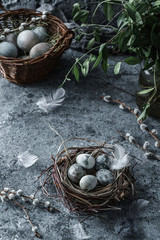
[[[25,168],[31,167],[35,162],[37,162],[38,157],[34,154],[30,154],[28,151],[25,151],[18,155],[17,164],[24,166]]]

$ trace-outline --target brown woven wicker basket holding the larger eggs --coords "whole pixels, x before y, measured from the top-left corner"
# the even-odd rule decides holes
[[[0,31],[4,28],[11,30],[17,28],[25,19],[39,17],[41,12],[31,9],[18,9],[7,11],[0,2],[0,8],[4,11],[0,15]],[[62,53],[69,47],[73,38],[73,32],[69,31],[63,22],[57,17],[48,14],[47,26],[49,34],[60,34],[57,43],[40,57],[30,59],[9,58],[0,55],[0,71],[4,78],[17,84],[34,83],[48,78]]]

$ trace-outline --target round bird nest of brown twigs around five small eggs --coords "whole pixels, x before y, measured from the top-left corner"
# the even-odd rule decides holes
[[[72,212],[86,213],[99,212],[101,210],[120,210],[118,202],[134,195],[135,180],[130,173],[130,167],[113,170],[114,180],[107,186],[97,184],[94,190],[84,191],[78,184],[71,182],[68,178],[69,167],[76,162],[76,157],[81,153],[91,154],[94,158],[105,154],[109,159],[109,156],[113,154],[114,146],[83,138],[74,139],[90,142],[92,146],[67,148],[65,144],[68,140],[64,141],[59,147],[56,157],[52,156],[53,165],[43,172],[43,174],[47,173],[47,177],[42,184],[43,192],[49,197],[52,196],[48,194],[45,188],[49,179],[52,178],[57,196],[64,206]],[[73,138],[69,140],[73,140]],[[62,146],[64,147],[63,149],[61,149]],[[88,171],[89,174],[95,175],[94,168]]]

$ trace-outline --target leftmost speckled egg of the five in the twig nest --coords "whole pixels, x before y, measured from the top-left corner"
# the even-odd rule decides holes
[[[68,178],[74,182],[74,183],[78,183],[79,180],[81,179],[81,177],[84,176],[84,170],[83,168],[75,163],[73,164],[69,169],[68,169]]]

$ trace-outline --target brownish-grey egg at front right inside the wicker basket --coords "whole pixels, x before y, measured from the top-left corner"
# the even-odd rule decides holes
[[[48,43],[38,43],[30,51],[30,58],[35,58],[43,55],[45,52],[49,51],[50,45]]]

